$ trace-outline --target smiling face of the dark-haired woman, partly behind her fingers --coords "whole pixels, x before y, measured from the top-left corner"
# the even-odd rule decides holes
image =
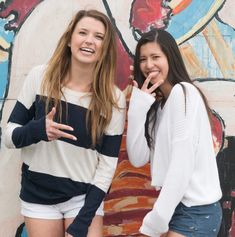
[[[151,73],[156,74],[151,83],[167,80],[169,64],[166,55],[156,42],[150,42],[140,47],[140,70],[147,78]]]

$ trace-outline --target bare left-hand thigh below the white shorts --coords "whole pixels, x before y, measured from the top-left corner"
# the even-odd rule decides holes
[[[63,220],[24,219],[28,237],[64,237]]]

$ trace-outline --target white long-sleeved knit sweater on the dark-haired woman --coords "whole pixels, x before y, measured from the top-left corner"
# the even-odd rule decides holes
[[[188,207],[206,205],[222,196],[204,102],[193,85],[182,85],[175,85],[164,107],[159,106],[153,150],[147,145],[144,124],[155,99],[137,88],[133,89],[130,98],[129,160],[136,167],[150,161],[151,184],[156,189],[161,188],[153,210],[145,216],[140,228],[142,233],[152,237],[168,231],[168,224],[180,202]]]

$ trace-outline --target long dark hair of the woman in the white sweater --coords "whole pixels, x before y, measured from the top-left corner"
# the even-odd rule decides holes
[[[147,43],[152,43],[152,42],[159,44],[161,50],[167,57],[168,64],[169,64],[169,71],[168,71],[167,78],[168,78],[169,83],[172,86],[176,84],[180,84],[183,88],[185,100],[186,100],[186,90],[185,90],[184,85],[181,84],[181,82],[188,82],[192,84],[193,86],[195,85],[193,84],[193,82],[191,81],[189,77],[189,74],[186,70],[182,55],[180,53],[180,50],[178,48],[178,45],[175,39],[170,33],[168,33],[165,30],[152,29],[149,32],[144,33],[141,36],[140,40],[138,41],[138,44],[136,46],[136,51],[135,51],[135,59],[134,59],[134,78],[138,82],[139,87],[140,88],[142,87],[146,79],[140,70],[140,50],[143,45]],[[210,119],[211,112],[210,112],[210,108],[208,106],[206,97],[203,95],[203,93],[198,87],[196,88],[198,89],[204,101],[209,120],[211,121]],[[150,148],[152,148],[154,145],[152,143],[153,143],[154,127],[157,121],[158,106],[159,106],[159,101],[156,100],[150,107],[147,113],[147,118],[145,122],[145,137],[147,139],[147,143]],[[152,125],[150,126],[150,124]]]

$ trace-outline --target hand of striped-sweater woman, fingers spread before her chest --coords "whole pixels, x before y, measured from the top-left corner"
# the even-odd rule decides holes
[[[56,109],[55,107],[53,107],[52,110],[46,116],[46,134],[47,134],[48,140],[53,141],[53,140],[63,137],[63,138],[68,138],[68,139],[76,141],[77,138],[75,136],[61,131],[61,130],[73,131],[72,127],[65,124],[56,123],[53,121],[55,114],[56,114]]]

